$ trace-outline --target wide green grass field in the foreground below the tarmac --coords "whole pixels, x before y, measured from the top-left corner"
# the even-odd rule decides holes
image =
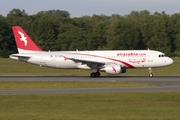
[[[180,92],[0,95],[1,120],[179,120]]]

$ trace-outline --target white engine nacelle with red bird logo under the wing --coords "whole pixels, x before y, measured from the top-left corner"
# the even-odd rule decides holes
[[[122,73],[121,65],[107,65],[104,69],[105,69],[105,72],[108,74]]]

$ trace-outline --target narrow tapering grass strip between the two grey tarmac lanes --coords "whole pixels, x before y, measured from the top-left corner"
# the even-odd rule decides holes
[[[43,89],[43,88],[100,88],[155,86],[150,83],[130,82],[0,82],[1,89]]]

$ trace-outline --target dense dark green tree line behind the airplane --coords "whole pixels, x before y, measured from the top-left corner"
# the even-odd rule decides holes
[[[17,53],[12,26],[21,26],[45,51],[158,50],[180,56],[180,13],[132,11],[128,15],[70,18],[67,11],[28,15],[13,9],[0,15],[0,57]]]

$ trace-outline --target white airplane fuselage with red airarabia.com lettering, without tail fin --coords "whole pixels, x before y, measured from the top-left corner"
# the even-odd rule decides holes
[[[173,60],[164,53],[154,50],[109,50],[109,51],[58,51],[58,52],[32,52],[13,54],[29,56],[29,59],[10,56],[12,59],[28,62],[40,66],[62,69],[92,69],[70,58],[83,61],[102,62],[106,64],[119,64],[125,68],[150,68],[171,65]],[[103,66],[100,67],[103,70]]]

